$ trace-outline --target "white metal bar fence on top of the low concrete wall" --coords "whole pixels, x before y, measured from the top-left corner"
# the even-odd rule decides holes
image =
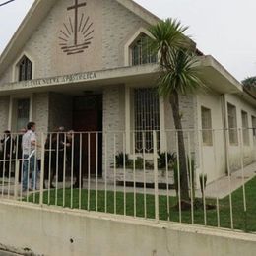
[[[27,157],[22,136],[1,136],[3,199],[256,231],[253,129],[39,133]]]

